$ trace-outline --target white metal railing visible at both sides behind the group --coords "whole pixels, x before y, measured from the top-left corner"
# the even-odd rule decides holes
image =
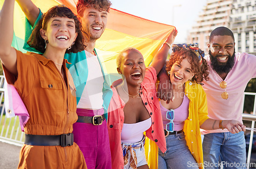
[[[5,116],[5,104],[4,100],[4,76],[0,75],[0,100],[2,100],[2,104],[0,107],[1,116],[0,116],[0,141],[6,142],[9,144],[14,144],[17,146],[22,146],[25,140],[25,134],[20,130],[19,119],[17,116],[13,118],[6,118]],[[251,121],[251,128],[254,128],[254,123],[256,121],[256,93],[244,93],[245,95],[253,95],[254,96],[254,104],[253,104],[253,113],[252,114],[242,114],[243,120]],[[250,132],[250,141],[249,141],[249,149],[247,156],[247,164],[250,164],[251,157],[251,149],[252,149],[252,140],[253,140],[253,131]],[[249,168],[249,165],[247,166]]]

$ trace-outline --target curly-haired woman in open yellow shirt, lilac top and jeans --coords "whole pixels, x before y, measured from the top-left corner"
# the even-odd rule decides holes
[[[158,152],[158,168],[203,168],[200,128],[227,128],[231,133],[244,131],[235,120],[207,117],[207,101],[201,81],[208,80],[208,65],[198,44],[173,45],[166,72],[173,86],[174,99],[161,100],[161,114],[167,151]]]

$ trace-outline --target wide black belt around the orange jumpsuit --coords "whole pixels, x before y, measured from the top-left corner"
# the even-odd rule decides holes
[[[33,135],[25,134],[25,145],[31,146],[72,146],[74,143],[73,133],[61,135]]]

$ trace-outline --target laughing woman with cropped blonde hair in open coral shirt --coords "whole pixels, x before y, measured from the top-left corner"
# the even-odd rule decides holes
[[[176,35],[173,30],[147,68],[135,48],[126,48],[117,57],[122,79],[111,86],[113,97],[108,109],[112,168],[148,168],[144,131],[163,152],[166,150],[155,83]]]

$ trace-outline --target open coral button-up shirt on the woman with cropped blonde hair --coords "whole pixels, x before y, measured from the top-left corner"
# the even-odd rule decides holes
[[[141,83],[140,97],[151,116],[152,125],[146,130],[146,136],[157,144],[162,152],[166,151],[166,142],[163,131],[163,122],[160,111],[159,100],[156,97],[157,74],[154,67],[147,67],[145,77]],[[113,82],[111,88],[113,96],[108,109],[108,130],[110,138],[110,149],[112,168],[123,168],[123,153],[121,147],[121,131],[124,122],[123,108],[124,101],[118,95],[115,86],[120,84],[122,79]]]

